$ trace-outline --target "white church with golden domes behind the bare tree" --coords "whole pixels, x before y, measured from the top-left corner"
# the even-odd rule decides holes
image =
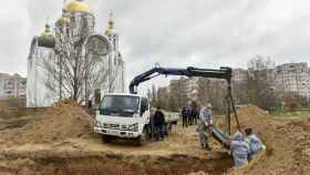
[[[94,64],[87,70],[94,72],[92,78],[86,72],[76,79],[80,89],[74,95],[81,103],[91,100],[95,90],[124,92],[124,60],[114,22],[111,18],[104,34],[95,32],[94,27],[95,17],[87,3],[72,0],[64,4],[62,17],[52,27],[46,24],[42,34],[33,38],[28,56],[28,107],[51,106],[72,97],[69,78],[73,72],[66,65],[76,56],[83,62],[81,66]]]

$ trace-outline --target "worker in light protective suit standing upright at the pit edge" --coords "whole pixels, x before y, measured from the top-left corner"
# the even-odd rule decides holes
[[[208,143],[208,137],[211,135],[213,116],[209,110],[204,106],[199,112],[199,140],[202,148],[211,150]]]

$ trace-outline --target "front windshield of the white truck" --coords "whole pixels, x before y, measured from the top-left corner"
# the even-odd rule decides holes
[[[101,115],[133,116],[137,113],[140,99],[137,96],[107,95],[100,105]]]

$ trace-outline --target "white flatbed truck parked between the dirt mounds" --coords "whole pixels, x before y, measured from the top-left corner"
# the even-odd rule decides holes
[[[96,110],[94,132],[104,142],[122,137],[142,145],[154,135],[151,105],[147,97],[137,94],[105,94]],[[177,124],[177,113],[165,113],[166,128]]]

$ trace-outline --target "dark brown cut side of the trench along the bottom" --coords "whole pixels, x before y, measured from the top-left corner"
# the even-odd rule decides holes
[[[173,154],[124,155],[114,153],[3,153],[0,172],[6,175],[183,175],[205,172],[224,174],[232,166],[225,153],[210,157]]]

